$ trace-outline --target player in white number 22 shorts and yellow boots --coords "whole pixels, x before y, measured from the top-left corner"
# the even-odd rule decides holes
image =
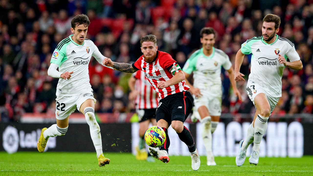
[[[69,126],[69,115],[77,108],[85,115],[90,136],[97,152],[99,166],[110,163],[102,153],[100,127],[95,119],[95,98],[89,83],[88,64],[91,56],[102,64],[105,57],[95,44],[85,39],[89,18],[80,14],[71,21],[72,35],[62,40],[53,52],[48,75],[59,78],[56,91],[56,124],[43,128],[38,140],[39,152],[44,152],[49,137],[64,136]],[[59,71],[57,68],[59,67]]]

